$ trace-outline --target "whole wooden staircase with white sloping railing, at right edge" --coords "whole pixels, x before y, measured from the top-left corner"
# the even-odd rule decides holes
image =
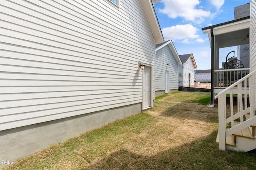
[[[255,80],[256,70],[215,96],[218,99],[219,117],[216,143],[220,150],[247,152],[256,149]],[[233,102],[233,94],[237,95],[236,104]],[[227,96],[230,96],[228,105]]]

